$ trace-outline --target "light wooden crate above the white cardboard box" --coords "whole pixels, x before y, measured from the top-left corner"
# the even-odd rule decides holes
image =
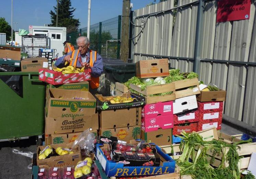
[[[174,83],[174,85],[175,85],[176,99],[186,97],[186,96],[200,94],[200,89],[199,89],[197,78],[174,81],[172,83]],[[196,86],[196,87],[193,89],[188,89],[191,86]],[[187,89],[182,90],[183,88],[187,88]]]

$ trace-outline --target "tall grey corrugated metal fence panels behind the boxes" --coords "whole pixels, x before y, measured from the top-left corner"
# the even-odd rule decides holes
[[[180,0],[178,6],[194,1]],[[143,33],[134,40],[134,60],[169,56],[172,67],[182,72],[192,71],[198,3],[178,9],[173,34],[172,11],[147,17],[149,13],[170,9],[173,4],[174,0],[167,0],[135,11],[136,25],[141,25],[142,19],[148,20]],[[224,114],[253,126],[256,126],[256,70],[255,64],[246,63],[256,63],[255,6],[256,0],[252,0],[250,19],[216,23],[217,0],[205,1],[199,42],[199,79],[227,91]],[[142,15],[145,17],[139,17]],[[135,36],[140,31],[141,28],[135,27]]]

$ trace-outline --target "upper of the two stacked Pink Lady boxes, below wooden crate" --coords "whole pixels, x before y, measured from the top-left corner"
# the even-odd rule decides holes
[[[173,114],[173,102],[157,102],[154,104],[146,104],[142,108],[142,118],[155,118],[158,115],[172,115]]]

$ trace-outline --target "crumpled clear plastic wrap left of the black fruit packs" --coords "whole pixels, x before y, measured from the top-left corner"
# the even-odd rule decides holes
[[[75,141],[72,146],[72,149],[78,145],[81,149],[85,150],[86,154],[89,154],[93,151],[94,148],[95,135],[90,132],[89,129],[85,130]]]

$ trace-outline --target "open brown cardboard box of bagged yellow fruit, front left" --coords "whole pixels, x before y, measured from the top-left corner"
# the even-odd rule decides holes
[[[76,165],[82,160],[80,147],[71,149],[72,143],[53,144],[49,146],[38,146],[37,165],[49,167],[64,167]]]

